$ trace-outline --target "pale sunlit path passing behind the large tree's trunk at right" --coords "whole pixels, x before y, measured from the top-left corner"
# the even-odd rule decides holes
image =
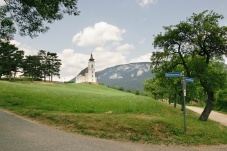
[[[201,114],[203,112],[203,108],[195,107],[195,106],[187,106],[188,109]],[[227,115],[218,113],[216,111],[211,111],[208,119],[219,122],[220,124],[227,126]]]

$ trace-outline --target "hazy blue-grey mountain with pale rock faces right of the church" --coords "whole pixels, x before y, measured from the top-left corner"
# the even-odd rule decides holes
[[[143,91],[143,82],[152,78],[150,62],[117,65],[96,72],[97,82],[108,86],[123,87],[124,90]]]

